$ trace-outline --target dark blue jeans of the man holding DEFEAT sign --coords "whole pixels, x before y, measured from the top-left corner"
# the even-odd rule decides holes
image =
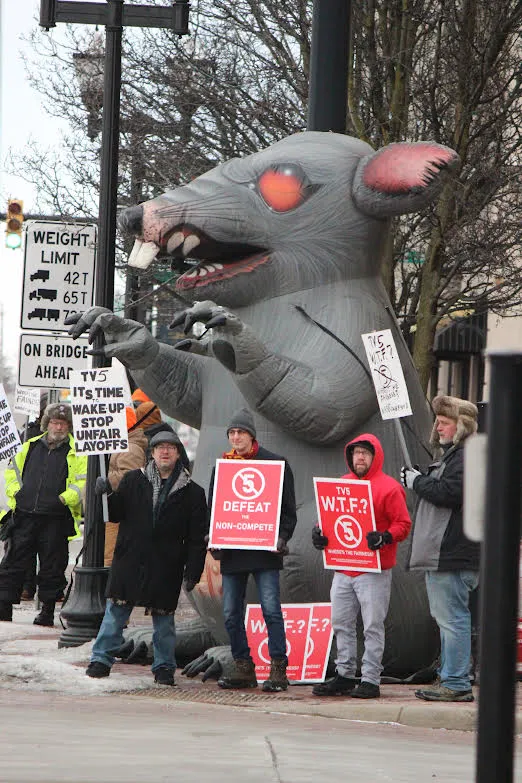
[[[253,571],[259,602],[268,632],[268,651],[271,658],[286,660],[286,635],[281,599],[279,597],[279,571],[263,569]],[[250,658],[250,647],[245,630],[245,595],[248,572],[223,574],[223,614],[232,647],[232,657]]]

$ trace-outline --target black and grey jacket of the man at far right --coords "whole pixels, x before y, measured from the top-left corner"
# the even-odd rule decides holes
[[[417,476],[413,490],[419,501],[407,568],[423,571],[478,571],[480,544],[464,535],[462,499],[464,491],[463,443],[443,447],[438,462]]]

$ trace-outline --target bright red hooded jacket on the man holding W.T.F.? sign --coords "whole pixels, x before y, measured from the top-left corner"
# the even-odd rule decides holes
[[[353,464],[349,448],[363,442],[370,443],[375,454],[368,473],[359,479],[353,472]],[[369,481],[372,488],[373,512],[375,515],[375,528],[380,533],[387,530],[393,538],[391,544],[384,544],[379,550],[381,557],[381,569],[383,571],[393,568],[397,562],[397,544],[407,538],[411,529],[411,519],[406,506],[406,493],[398,481],[383,472],[384,451],[381,443],[375,435],[359,435],[346,444],[344,456],[349,472],[343,478]],[[360,576],[363,571],[343,571],[347,576]]]

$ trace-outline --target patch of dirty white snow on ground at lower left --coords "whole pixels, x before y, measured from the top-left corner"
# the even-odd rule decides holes
[[[87,677],[92,641],[58,649],[58,637],[52,629],[32,624],[35,611],[28,611],[32,608],[15,607],[13,622],[0,622],[0,689],[93,696],[152,686],[148,669],[138,677],[116,672],[100,680]],[[49,638],[51,633],[55,635]]]

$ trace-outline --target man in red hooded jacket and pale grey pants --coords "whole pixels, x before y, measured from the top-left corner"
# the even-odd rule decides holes
[[[372,487],[376,530],[366,535],[368,548],[380,550],[381,572],[336,571],[330,597],[332,626],[337,643],[336,674],[316,685],[316,696],[350,695],[357,699],[380,696],[384,621],[390,603],[392,568],[396,562],[397,544],[411,528],[406,494],[398,481],[383,472],[384,452],[374,435],[360,435],[345,447],[348,479],[364,479]],[[328,538],[316,525],[312,531],[316,549],[324,549]],[[361,682],[357,685],[357,616],[361,612],[364,628],[364,654]]]

